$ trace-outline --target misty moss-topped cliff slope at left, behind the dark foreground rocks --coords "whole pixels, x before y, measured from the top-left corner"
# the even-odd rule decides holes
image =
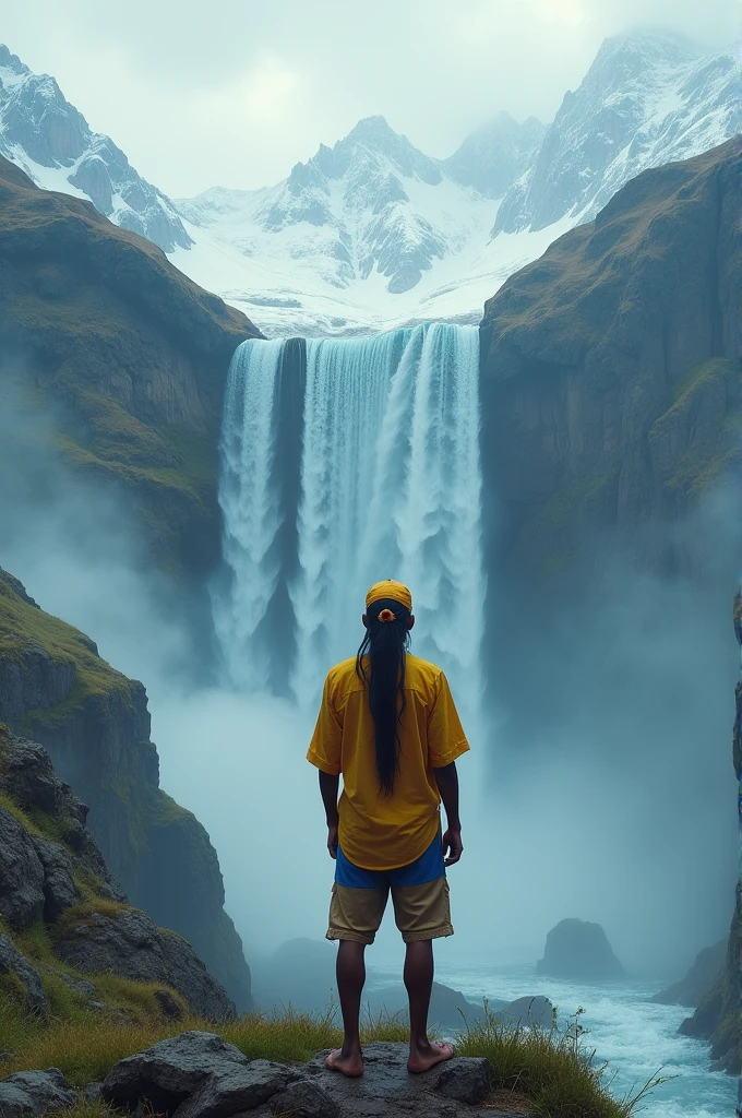
[[[159,787],[144,688],[2,570],[0,720],[41,742],[89,806],[91,832],[132,903],[184,936],[238,1008],[249,1008],[217,854],[198,819]]]

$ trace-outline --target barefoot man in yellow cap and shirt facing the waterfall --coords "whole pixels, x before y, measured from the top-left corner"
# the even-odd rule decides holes
[[[407,651],[415,625],[408,588],[392,579],[377,582],[362,619],[365,636],[356,657],[327,673],[307,752],[320,769],[327,849],[335,859],[327,939],[340,940],[337,992],[345,1031],[342,1049],[325,1064],[352,1077],[363,1073],[364,951],[390,890],[407,945],[408,1070],[427,1071],[454,1054],[453,1044],[428,1040],[428,1006],[432,940],[454,934],[446,866],[463,851],[456,758],[469,748],[446,676]]]

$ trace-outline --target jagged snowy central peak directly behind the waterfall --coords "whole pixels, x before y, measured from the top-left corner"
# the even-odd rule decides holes
[[[511,125],[508,164],[520,170],[520,126]],[[531,141],[529,149],[532,122],[526,134],[521,149],[527,152],[534,146]],[[494,143],[489,150],[496,150]],[[267,260],[283,253],[294,268],[306,264],[336,288],[375,276],[372,282],[383,278],[386,291],[399,295],[416,287],[436,262],[486,235],[495,173],[486,162],[477,167],[470,155],[464,145],[451,160],[437,162],[382,116],[369,116],[334,148],[322,144],[276,187],[217,188],[191,200],[177,199],[175,206],[193,226],[249,257]],[[446,163],[453,163],[455,178]],[[477,176],[488,180],[486,191],[474,188]],[[512,174],[505,188],[511,181]],[[198,243],[197,233],[193,239]]]

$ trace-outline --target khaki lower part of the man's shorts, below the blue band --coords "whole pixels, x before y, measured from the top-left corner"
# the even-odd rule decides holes
[[[332,887],[327,939],[372,944],[391,890],[394,920],[406,944],[453,936],[448,882],[445,877],[420,885],[384,885],[379,889]]]

